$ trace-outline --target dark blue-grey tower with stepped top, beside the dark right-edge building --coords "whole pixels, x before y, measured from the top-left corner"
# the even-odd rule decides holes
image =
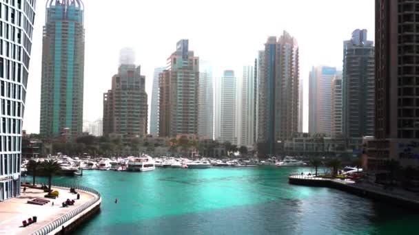
[[[367,30],[355,30],[343,43],[343,87],[345,137],[374,136],[374,42]]]

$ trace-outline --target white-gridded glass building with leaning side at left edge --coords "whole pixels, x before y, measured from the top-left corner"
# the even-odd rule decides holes
[[[36,1],[0,3],[0,201],[21,190],[21,139]]]

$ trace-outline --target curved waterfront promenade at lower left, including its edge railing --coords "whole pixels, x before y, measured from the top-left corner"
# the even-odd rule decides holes
[[[80,188],[80,187],[79,187]],[[47,199],[46,192],[36,188],[26,188],[21,196],[0,203],[0,234],[59,234],[61,230],[70,226],[84,214],[96,208],[101,203],[99,193],[76,189],[80,194],[70,193],[70,188],[52,186],[52,190],[59,191],[57,199]],[[33,199],[46,199],[45,205],[32,205],[28,201]],[[63,208],[62,203],[67,199],[74,200],[74,205]],[[99,206],[97,208],[99,208]],[[32,216],[37,216],[37,223],[23,227],[22,221],[28,221]]]

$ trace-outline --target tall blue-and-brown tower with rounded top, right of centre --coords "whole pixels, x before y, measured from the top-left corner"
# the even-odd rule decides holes
[[[265,43],[264,69],[258,69],[258,153],[274,154],[298,133],[298,45],[287,32]],[[265,122],[265,123],[264,123]],[[266,152],[266,153],[264,153]]]

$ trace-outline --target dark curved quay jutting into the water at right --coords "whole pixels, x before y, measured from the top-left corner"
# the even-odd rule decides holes
[[[342,190],[360,197],[419,210],[419,195],[400,188],[384,188],[376,183],[349,179],[331,179],[309,175],[289,175],[288,182],[299,186],[327,187]]]

